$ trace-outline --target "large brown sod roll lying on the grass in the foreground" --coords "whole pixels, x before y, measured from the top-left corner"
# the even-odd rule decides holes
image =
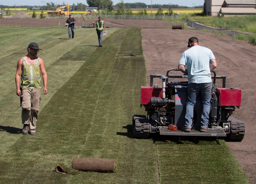
[[[115,159],[74,158],[72,168],[82,171],[114,172]]]

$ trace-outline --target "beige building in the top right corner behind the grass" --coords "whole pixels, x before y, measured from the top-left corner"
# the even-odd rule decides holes
[[[256,14],[255,0],[205,0],[206,15],[248,15]]]

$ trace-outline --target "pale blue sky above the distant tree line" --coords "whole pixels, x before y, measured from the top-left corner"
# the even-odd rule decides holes
[[[112,0],[114,5],[121,2],[121,0]],[[54,4],[69,4],[73,5],[73,3],[83,3],[87,5],[86,0],[0,0],[0,5],[7,5],[7,6],[19,6],[19,5],[46,5],[48,2],[53,2]],[[151,5],[151,0],[124,0],[124,3],[146,3],[146,5]],[[203,5],[204,0],[152,0],[152,4],[174,4],[180,6],[200,6]]]

